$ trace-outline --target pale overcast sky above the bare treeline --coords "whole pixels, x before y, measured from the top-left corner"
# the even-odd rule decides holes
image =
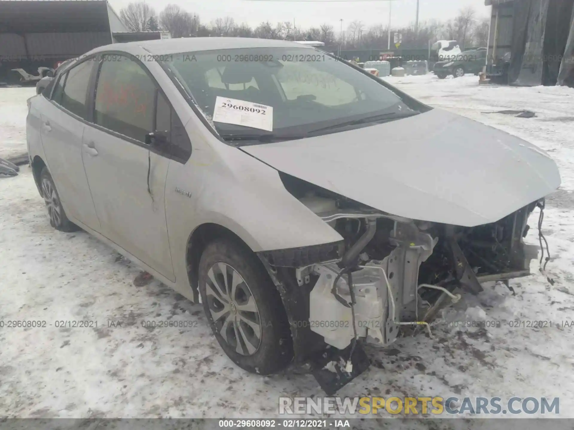
[[[132,0],[134,1],[134,0]],[[251,1],[251,0],[146,0],[157,13],[168,3],[175,3],[183,9],[199,15],[201,22],[207,24],[215,18],[226,16],[235,19],[237,24],[247,22],[253,28],[262,21],[276,24],[279,21],[295,20],[297,27],[309,28],[324,23],[331,24],[338,33],[340,19],[343,18],[343,30],[352,21],[362,21],[366,28],[375,24],[386,26],[389,22],[389,1],[357,1],[348,0],[305,3],[281,1]],[[119,13],[130,0],[110,0],[111,5]],[[479,16],[487,16],[490,6],[484,6],[484,0],[420,0],[419,21],[429,19],[447,20],[457,15],[466,6],[473,6]],[[391,25],[404,26],[414,22],[417,10],[417,0],[393,0]]]

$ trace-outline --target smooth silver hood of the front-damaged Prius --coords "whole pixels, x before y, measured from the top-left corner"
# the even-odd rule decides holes
[[[439,109],[241,149],[386,213],[460,226],[498,221],[560,186],[556,163],[540,148]]]

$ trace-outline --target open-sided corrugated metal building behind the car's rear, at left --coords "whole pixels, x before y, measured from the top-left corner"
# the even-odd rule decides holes
[[[129,32],[107,0],[0,0],[0,80],[13,68],[34,73],[98,46],[163,37]]]

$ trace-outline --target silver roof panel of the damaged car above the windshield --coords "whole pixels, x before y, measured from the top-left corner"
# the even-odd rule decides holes
[[[107,50],[126,50],[130,52],[131,50],[138,48],[144,48],[149,53],[156,55],[239,48],[315,49],[312,46],[285,40],[257,39],[250,37],[183,37],[177,39],[146,40],[111,44],[100,46],[92,52],[102,52]]]

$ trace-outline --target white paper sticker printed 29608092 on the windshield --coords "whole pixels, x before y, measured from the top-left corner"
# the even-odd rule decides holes
[[[215,99],[214,122],[273,131],[273,107],[251,101]]]

